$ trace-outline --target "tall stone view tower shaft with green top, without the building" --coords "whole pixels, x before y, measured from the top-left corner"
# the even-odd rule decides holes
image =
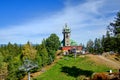
[[[65,24],[65,27],[63,28],[62,33],[63,33],[63,46],[70,46],[70,33],[71,33],[71,30],[67,26],[67,24]]]

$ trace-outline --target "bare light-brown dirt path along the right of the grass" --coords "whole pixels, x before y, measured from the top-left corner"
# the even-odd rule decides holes
[[[105,64],[106,66],[109,66],[114,69],[120,69],[120,62],[118,61],[113,61],[111,59],[108,59],[104,56],[101,55],[87,55],[90,57],[91,60],[95,61],[96,63],[99,64]]]

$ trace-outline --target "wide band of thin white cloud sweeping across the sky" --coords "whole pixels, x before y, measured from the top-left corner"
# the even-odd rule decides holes
[[[69,3],[69,1],[67,2]],[[62,40],[62,28],[65,23],[68,23],[72,29],[71,38],[78,43],[86,43],[89,39],[105,34],[106,26],[113,20],[113,16],[106,17],[106,15],[113,13],[113,11],[116,13],[119,5],[120,1],[118,0],[114,3],[113,0],[87,0],[74,6],[66,3],[63,10],[44,19],[37,18],[26,24],[1,29],[0,41],[1,43],[10,41],[19,44],[29,40],[33,43],[40,43],[51,33],[58,34]]]

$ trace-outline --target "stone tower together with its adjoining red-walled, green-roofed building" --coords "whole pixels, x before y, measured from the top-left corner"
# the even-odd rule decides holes
[[[78,45],[74,40],[70,39],[71,36],[71,29],[65,24],[63,30],[63,40],[62,40],[62,47],[63,51],[72,51],[76,49],[76,51],[82,51],[82,46]]]

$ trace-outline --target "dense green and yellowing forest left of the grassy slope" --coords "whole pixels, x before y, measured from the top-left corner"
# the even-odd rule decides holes
[[[28,59],[38,65],[30,72],[40,70],[42,67],[51,64],[55,59],[55,53],[60,47],[60,40],[56,34],[51,34],[43,39],[41,44],[33,45],[29,41],[24,45],[11,44],[0,46],[0,76],[7,80],[19,80],[27,72],[19,70]]]

